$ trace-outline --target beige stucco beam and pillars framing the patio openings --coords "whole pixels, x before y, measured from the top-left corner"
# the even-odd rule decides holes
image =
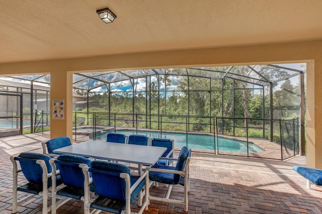
[[[307,64],[307,165],[322,168],[322,40],[137,53],[80,59],[0,64],[0,75],[50,73],[51,99],[64,99],[66,118],[52,120],[51,138],[72,136],[72,73],[135,68],[201,65],[252,65],[306,62]]]

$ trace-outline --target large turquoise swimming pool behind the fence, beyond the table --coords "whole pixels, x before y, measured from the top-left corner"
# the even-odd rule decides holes
[[[125,135],[136,134],[136,131],[117,131],[117,133],[123,133]],[[175,140],[176,147],[186,146],[188,144],[189,148],[198,148],[198,149],[207,149],[207,150],[214,150],[215,143],[214,143],[214,136],[210,135],[202,135],[202,134],[181,134],[181,133],[162,133],[160,136],[159,132],[151,132],[151,131],[138,131],[137,134],[146,135],[150,138],[168,138]],[[106,140],[107,133],[97,135],[96,140]],[[188,141],[187,141],[188,136]],[[188,142],[188,143],[187,143]],[[247,142],[228,139],[223,137],[218,137],[218,144],[217,144],[217,137],[216,137],[216,149],[217,145],[219,150],[223,151],[234,151],[234,152],[247,152]],[[265,151],[265,149],[261,148],[260,146],[249,142],[249,152],[250,153],[258,153]]]

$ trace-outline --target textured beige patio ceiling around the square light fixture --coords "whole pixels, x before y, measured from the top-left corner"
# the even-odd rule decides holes
[[[117,16],[104,24],[96,10]],[[322,38],[320,0],[0,0],[0,63]]]

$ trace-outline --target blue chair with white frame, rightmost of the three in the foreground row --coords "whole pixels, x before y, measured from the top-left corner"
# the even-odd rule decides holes
[[[131,213],[130,204],[134,202],[137,195],[145,186],[145,201],[139,213],[148,206],[148,173],[144,172],[141,176],[133,176],[130,169],[120,163],[95,160],[91,167],[83,167],[85,175],[85,201],[84,213],[90,213],[91,207],[112,213]],[[89,172],[92,173],[93,186],[95,193],[99,196],[90,202],[89,193]],[[140,198],[139,198],[140,200]],[[140,205],[142,201],[138,201]],[[123,213],[122,212],[122,213]]]

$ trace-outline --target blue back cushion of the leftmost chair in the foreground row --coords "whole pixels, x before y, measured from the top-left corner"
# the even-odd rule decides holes
[[[37,160],[44,160],[46,163],[48,173],[51,173],[52,169],[49,163],[51,157],[45,154],[38,154],[33,152],[23,152],[16,157],[21,166],[21,169],[26,179],[31,183],[42,184],[42,168],[36,163]]]

